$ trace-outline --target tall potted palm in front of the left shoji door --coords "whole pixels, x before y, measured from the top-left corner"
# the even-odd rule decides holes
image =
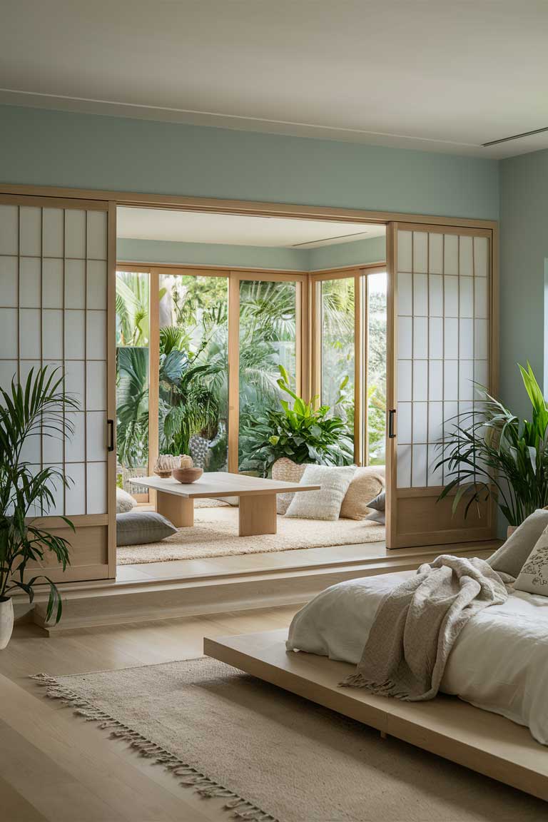
[[[58,622],[62,600],[48,576],[25,574],[30,561],[40,563],[46,552],[53,553],[65,570],[70,543],[35,524],[35,512],[47,515],[54,503],[57,483],[67,486],[67,478],[53,465],[39,471],[25,459],[24,446],[35,436],[64,438],[73,429],[66,411],[79,408],[76,399],[62,387],[58,369],[30,370],[21,385],[12,379],[9,390],[0,388],[0,649],[12,635],[13,605],[10,594],[21,589],[30,602],[35,585],[49,586],[47,619]],[[74,531],[67,517],[62,520]]]

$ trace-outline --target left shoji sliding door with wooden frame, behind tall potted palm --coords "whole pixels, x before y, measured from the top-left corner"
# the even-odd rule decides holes
[[[34,512],[71,543],[67,573],[48,568],[57,580],[114,575],[113,239],[106,202],[0,199],[0,383],[58,367],[80,404],[71,438],[37,435],[25,453],[35,469],[55,465],[70,479],[56,487],[51,510]]]

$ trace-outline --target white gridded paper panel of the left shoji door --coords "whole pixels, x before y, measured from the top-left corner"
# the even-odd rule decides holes
[[[106,211],[0,204],[0,384],[59,367],[81,407],[70,441],[25,448],[71,478],[50,515],[107,513],[107,247]]]

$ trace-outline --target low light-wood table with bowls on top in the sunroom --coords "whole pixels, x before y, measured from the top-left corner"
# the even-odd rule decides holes
[[[194,500],[238,496],[238,533],[241,537],[276,533],[276,494],[320,489],[320,485],[280,483],[274,479],[224,471],[204,473],[196,483],[177,483],[173,477],[136,477],[130,483],[154,489],[156,510],[177,528],[189,528],[194,524]]]

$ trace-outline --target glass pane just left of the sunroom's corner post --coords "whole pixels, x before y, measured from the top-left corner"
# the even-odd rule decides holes
[[[266,409],[279,409],[279,365],[292,386],[296,375],[297,283],[242,280],[240,284],[240,437],[241,470],[255,471],[253,421]],[[290,399],[283,394],[283,399]]]

